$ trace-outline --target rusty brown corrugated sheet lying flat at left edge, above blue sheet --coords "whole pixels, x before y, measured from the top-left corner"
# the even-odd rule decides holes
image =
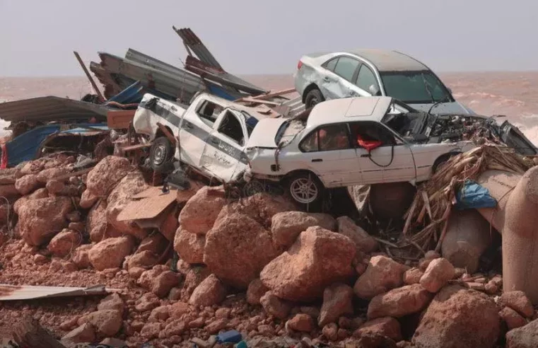
[[[53,96],[0,103],[0,118],[9,122],[106,120],[107,111],[103,105]]]

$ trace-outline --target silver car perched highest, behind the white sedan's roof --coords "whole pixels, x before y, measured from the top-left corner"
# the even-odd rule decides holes
[[[475,114],[455,100],[428,66],[397,51],[306,54],[300,58],[294,80],[306,108],[324,100],[379,95],[426,112]]]

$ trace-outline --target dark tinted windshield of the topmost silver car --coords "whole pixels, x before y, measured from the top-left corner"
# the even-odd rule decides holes
[[[431,71],[387,71],[380,75],[387,95],[404,103],[452,101],[447,88]]]

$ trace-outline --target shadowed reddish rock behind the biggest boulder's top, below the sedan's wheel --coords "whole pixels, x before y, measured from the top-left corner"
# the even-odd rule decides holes
[[[218,214],[217,220],[238,212],[250,216],[250,218],[258,221],[264,228],[269,229],[271,219],[275,214],[283,211],[296,210],[296,205],[284,197],[271,196],[267,193],[257,193],[245,199],[240,199],[238,202],[226,204],[221,210],[221,213]]]

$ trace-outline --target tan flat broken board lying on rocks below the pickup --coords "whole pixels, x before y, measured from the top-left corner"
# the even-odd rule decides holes
[[[176,197],[176,192],[172,190],[168,193],[155,191],[154,195],[127,204],[117,216],[117,221],[153,219],[175,202]]]

